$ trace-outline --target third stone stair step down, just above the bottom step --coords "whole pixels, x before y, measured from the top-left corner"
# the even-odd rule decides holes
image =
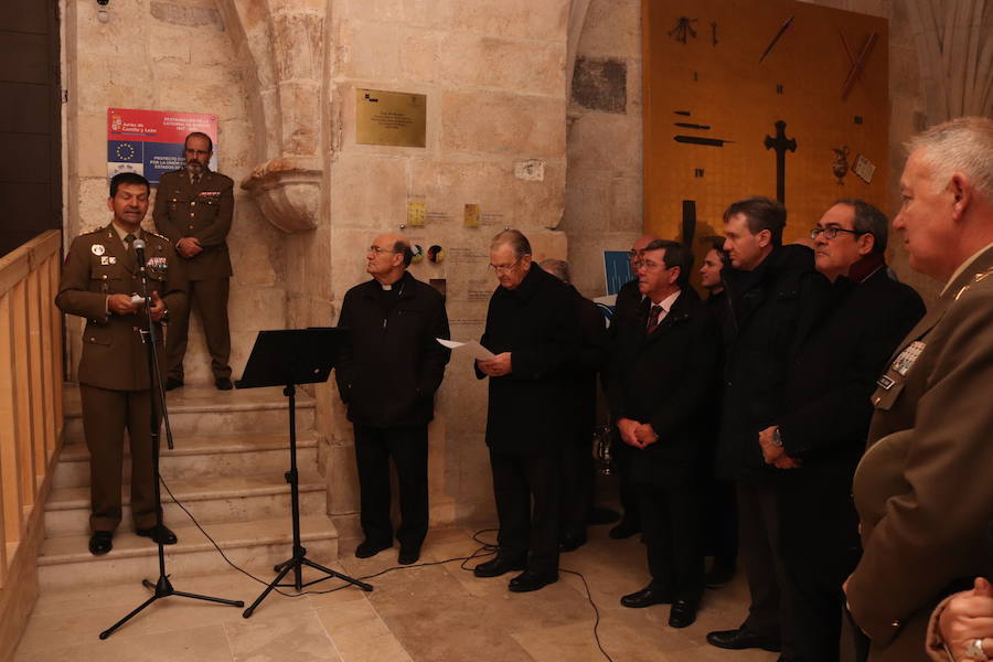
[[[247,522],[279,517],[290,511],[290,489],[282,473],[249,477],[200,477],[170,481],[172,493],[200,523]],[[130,490],[121,490],[124,515],[120,531],[134,531]],[[185,522],[188,515],[166,490],[162,506],[167,523]],[[300,472],[300,512],[323,513],[327,491],[313,470]],[[50,537],[89,534],[89,488],[52,490],[45,504],[45,534]]]

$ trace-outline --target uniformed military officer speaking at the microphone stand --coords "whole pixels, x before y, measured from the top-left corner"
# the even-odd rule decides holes
[[[141,293],[136,239],[146,244],[145,259],[153,322],[166,321],[185,308],[185,284],[175,269],[172,245],[163,236],[146,232],[149,184],[140,174],[122,172],[110,180],[107,207],[109,225],[83,234],[73,242],[62,268],[55,305],[67,314],[86,318],[79,394],[83,430],[89,449],[92,514],[89,551],[106,554],[121,520],[120,476],[124,430],[131,446],[131,514],[136,533],[163,544],[175,535],[157,524],[156,483],[151,447],[151,391],[148,354],[141,329],[145,302]],[[161,328],[160,328],[161,330]],[[161,335],[157,335],[161,344]],[[160,359],[164,356],[159,349]],[[164,367],[160,360],[160,367]]]

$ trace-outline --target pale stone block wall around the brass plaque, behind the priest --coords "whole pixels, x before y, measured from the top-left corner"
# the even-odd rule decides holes
[[[307,267],[332,295],[334,310],[364,273],[373,236],[401,231],[439,264],[412,267],[421,280],[445,279],[451,333],[478,339],[495,280],[489,242],[504,227],[530,236],[536,257],[565,257],[554,228],[565,191],[567,0],[341,0],[331,3],[324,103],[327,216],[317,241],[324,258]],[[425,148],[359,145],[356,88],[427,96]],[[532,168],[525,168],[532,162]],[[535,163],[536,162],[536,163]],[[424,227],[406,226],[407,204],[424,203]],[[465,227],[478,204],[479,227]],[[323,314],[323,313],[322,313]],[[324,322],[329,321],[327,318]],[[384,377],[388,378],[388,376]],[[331,430],[330,508],[340,523],[356,509],[351,428],[329,388],[322,420]],[[430,428],[435,524],[492,513],[483,441],[485,382],[455,357]]]

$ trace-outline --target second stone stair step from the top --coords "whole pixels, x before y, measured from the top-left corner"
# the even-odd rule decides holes
[[[317,467],[317,436],[297,434],[297,463]],[[130,477],[130,452],[125,442],[124,483]],[[288,433],[239,433],[175,438],[175,448],[162,446],[160,470],[166,481],[196,477],[282,476],[289,468]],[[89,485],[89,451],[82,442],[62,449],[53,488]]]

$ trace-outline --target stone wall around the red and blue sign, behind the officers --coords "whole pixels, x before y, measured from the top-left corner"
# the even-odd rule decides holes
[[[107,7],[66,0],[62,8],[65,113],[65,238],[105,225],[107,211],[107,108],[213,113],[220,117],[218,170],[236,182],[254,163],[254,127],[241,63],[213,0],[134,0]],[[152,189],[154,193],[154,189]],[[154,229],[151,205],[145,226]],[[259,329],[281,329],[284,238],[247,195],[235,190],[228,246],[232,366],[235,376]],[[81,318],[70,318],[66,341],[71,372],[79,357]],[[185,372],[188,383],[212,383],[210,355],[194,322]]]

